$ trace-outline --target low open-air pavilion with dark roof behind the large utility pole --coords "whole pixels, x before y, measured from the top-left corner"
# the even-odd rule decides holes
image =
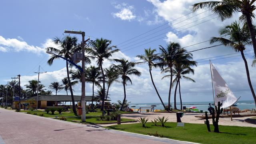
[[[34,104],[33,107],[36,107],[36,100],[37,100],[37,96],[33,96],[31,98],[25,98],[25,99],[21,99],[21,104],[22,103],[27,103],[27,100],[34,100]],[[99,100],[99,98],[94,96],[94,99],[92,99],[92,96],[85,96],[85,101],[86,102],[97,102]],[[76,104],[78,104],[78,102],[81,101],[81,96],[74,96],[74,101]],[[14,100],[12,107],[13,109],[17,109],[18,108],[18,102],[19,100]],[[38,108],[39,109],[45,109],[47,106],[55,106],[56,104],[58,106],[64,105],[65,103],[67,103],[66,105],[69,105],[71,102],[72,104],[72,98],[70,95],[50,95],[50,96],[38,96]],[[22,105],[22,108],[24,108],[24,105]]]

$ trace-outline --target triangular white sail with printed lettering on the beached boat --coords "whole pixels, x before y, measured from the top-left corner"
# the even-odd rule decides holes
[[[237,98],[236,96],[234,96],[233,92],[230,90],[225,80],[220,76],[216,68],[213,66],[212,62],[210,62],[210,65],[215,91],[215,105],[217,106],[218,102],[220,102],[222,103],[222,106],[220,108],[228,108],[237,101]]]

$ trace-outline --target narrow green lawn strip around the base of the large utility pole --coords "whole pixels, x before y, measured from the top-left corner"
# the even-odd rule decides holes
[[[96,118],[99,118],[99,116],[89,116],[86,117],[86,122],[84,123],[88,123],[88,124],[99,124],[99,123],[109,123],[109,122],[117,122],[116,120],[112,120],[112,121],[103,121],[103,120],[96,120]],[[76,118],[66,118],[68,122],[71,122],[71,120],[81,120],[80,117],[76,117]],[[121,122],[128,122],[128,121],[134,121],[132,119],[126,119],[126,118],[121,118]]]

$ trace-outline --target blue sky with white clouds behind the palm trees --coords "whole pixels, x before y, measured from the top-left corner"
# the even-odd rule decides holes
[[[112,40],[120,52],[113,58],[138,60],[144,48],[179,42],[186,50],[192,51],[210,47],[208,40],[218,37],[218,29],[238,20],[239,13],[223,22],[208,10],[192,13],[191,6],[204,0],[2,0],[0,1],[0,84],[6,84],[18,74],[24,87],[29,80],[37,80],[39,65],[42,67],[40,81],[48,86],[61,82],[66,77],[64,60],[56,60],[49,66],[45,48],[55,47],[52,39],[63,38],[64,30],[81,30],[86,38]],[[81,39],[80,35],[77,36]],[[200,44],[198,44],[200,43]],[[256,68],[251,67],[252,46],[246,47],[250,76],[256,91]],[[209,59],[224,78],[232,92],[240,100],[253,100],[244,61],[240,53],[232,48],[217,46],[192,52],[197,67],[195,74],[188,75],[196,83],[181,80],[183,102],[213,101]],[[226,56],[223,56],[226,55]],[[216,57],[219,56],[219,57]],[[212,58],[214,57],[214,58]],[[92,62],[92,65],[96,65]],[[112,62],[104,61],[103,67]],[[87,65],[88,66],[88,65]],[[132,103],[160,102],[146,64],[137,65],[142,76],[131,76],[132,85],[126,87],[127,100]],[[74,69],[74,68],[73,68]],[[169,81],[163,79],[159,69],[152,70],[154,82],[164,102],[168,102]],[[96,90],[95,90],[96,91]],[[173,102],[173,92],[171,102]],[[53,92],[54,93],[54,92]],[[58,94],[65,94],[62,90]],[[81,94],[81,84],[74,86],[74,94]],[[112,102],[122,100],[123,86],[114,83],[110,87]],[[92,95],[92,84],[86,84],[86,95]],[[179,100],[178,100],[179,102]]]

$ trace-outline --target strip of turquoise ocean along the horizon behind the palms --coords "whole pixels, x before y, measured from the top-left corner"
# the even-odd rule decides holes
[[[182,106],[186,106],[186,108],[195,106],[198,110],[203,110],[205,112],[205,111],[208,111],[207,109],[208,109],[209,103],[213,104],[213,102],[182,102]],[[168,105],[168,103],[164,103],[164,104]],[[236,104],[237,104],[236,107],[239,108],[240,110],[252,109],[256,107],[254,100],[238,100]],[[131,103],[129,104],[129,107],[132,109],[135,109],[134,111],[136,111],[140,107],[150,107],[151,105],[156,105],[154,107],[155,110],[164,109],[161,103]],[[173,105],[173,103],[171,103],[171,105]],[[135,107],[132,107],[132,106],[135,106]],[[177,102],[177,108],[180,109],[180,102]],[[150,108],[142,108],[141,112],[146,112],[146,109],[150,109]]]

